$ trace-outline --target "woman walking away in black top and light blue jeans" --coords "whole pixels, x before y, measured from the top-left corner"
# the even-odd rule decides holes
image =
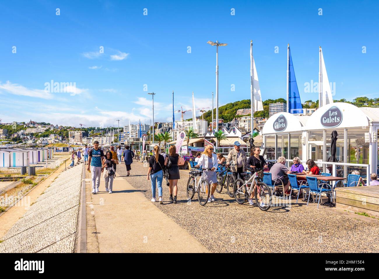
[[[152,202],[156,202],[155,198],[155,187],[158,186],[158,197],[159,203],[162,204],[162,180],[163,180],[163,170],[164,166],[164,157],[159,154],[159,147],[155,145],[154,147],[154,156],[151,156],[149,159],[149,170],[147,171],[147,180],[151,177],[151,192],[153,194]]]

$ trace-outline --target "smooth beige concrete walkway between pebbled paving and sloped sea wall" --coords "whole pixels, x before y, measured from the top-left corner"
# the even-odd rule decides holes
[[[99,190],[91,194],[99,252],[209,252],[118,173],[113,194],[105,192],[103,178]],[[87,245],[91,249],[94,243]]]

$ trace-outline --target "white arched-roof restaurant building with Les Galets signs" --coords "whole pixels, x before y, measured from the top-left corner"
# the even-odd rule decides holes
[[[331,156],[332,132],[337,131],[337,162]],[[336,102],[324,105],[310,116],[287,112],[271,116],[262,129],[265,158],[287,159],[288,167],[294,156],[304,164],[313,159],[323,172],[347,177],[352,170],[367,177],[379,173],[379,108],[356,107]]]

